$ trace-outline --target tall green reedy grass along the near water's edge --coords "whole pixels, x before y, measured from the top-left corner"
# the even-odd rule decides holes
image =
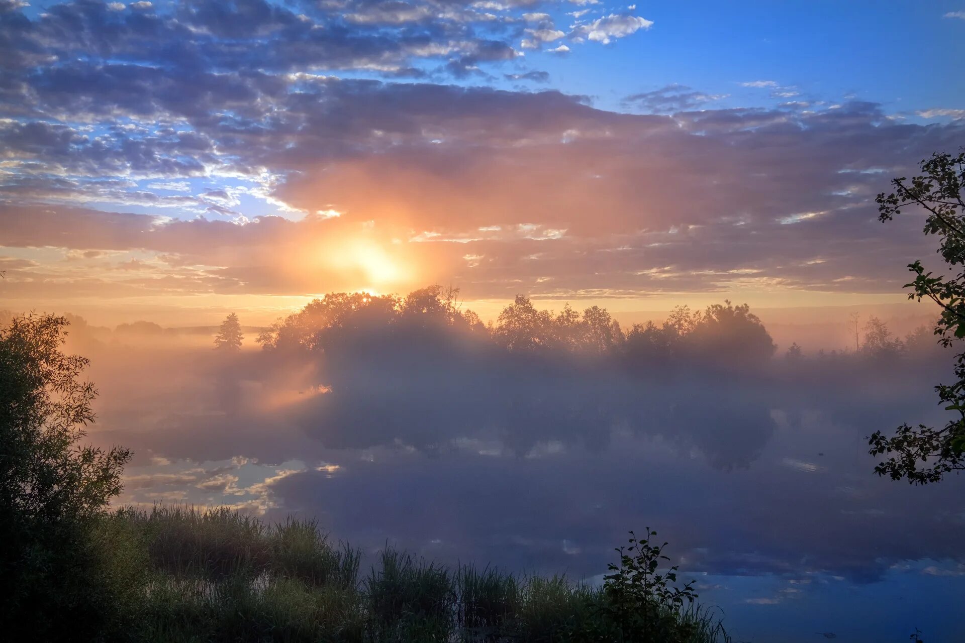
[[[600,587],[565,576],[450,569],[392,548],[360,577],[361,552],[329,542],[314,521],[269,525],[228,509],[123,509],[99,523],[96,543],[121,605],[112,640],[630,641],[620,624],[607,622]],[[680,643],[729,640],[699,607],[675,618],[695,625]]]

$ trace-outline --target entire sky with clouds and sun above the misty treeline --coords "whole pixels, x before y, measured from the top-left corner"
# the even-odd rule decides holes
[[[873,198],[965,140],[955,2],[0,2],[0,297],[270,322],[439,282],[897,303]]]

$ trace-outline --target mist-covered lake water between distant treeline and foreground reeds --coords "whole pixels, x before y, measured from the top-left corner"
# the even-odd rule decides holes
[[[735,640],[965,634],[960,480],[879,478],[866,440],[944,421],[951,352],[930,336],[764,360],[722,336],[661,361],[380,328],[324,351],[257,349],[249,331],[222,357],[209,335],[75,324],[100,390],[91,439],[134,450],[118,503],[297,512],[369,552],[590,581],[650,526]]]

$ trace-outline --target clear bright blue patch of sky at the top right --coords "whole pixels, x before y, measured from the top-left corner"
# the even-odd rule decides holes
[[[727,106],[769,104],[742,82],[773,80],[804,99],[879,101],[889,112],[956,107],[965,84],[965,20],[951,2],[640,4],[654,25],[619,47],[546,64],[567,90],[621,97],[679,83],[731,94]],[[574,57],[575,58],[575,57]],[[565,69],[563,67],[569,67]]]

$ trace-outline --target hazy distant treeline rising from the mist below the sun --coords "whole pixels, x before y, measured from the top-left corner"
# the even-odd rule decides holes
[[[415,339],[420,332],[468,335],[487,340],[512,353],[569,353],[620,356],[628,362],[729,362],[750,365],[767,362],[777,347],[747,304],[730,301],[693,310],[678,306],[662,323],[648,321],[623,329],[606,308],[582,312],[566,304],[559,312],[538,309],[524,295],[500,312],[495,322],[483,324],[478,314],[463,309],[458,291],[431,285],[405,297],[367,293],[331,293],[302,310],[280,319],[258,335],[266,350],[331,350],[362,336]],[[935,340],[922,326],[903,340],[887,324],[869,317],[863,332],[856,329],[857,353],[896,356],[904,351],[931,349]],[[848,352],[848,351],[843,351]],[[803,356],[796,343],[788,359]],[[837,355],[831,351],[828,355]],[[823,351],[816,353],[824,356]]]

